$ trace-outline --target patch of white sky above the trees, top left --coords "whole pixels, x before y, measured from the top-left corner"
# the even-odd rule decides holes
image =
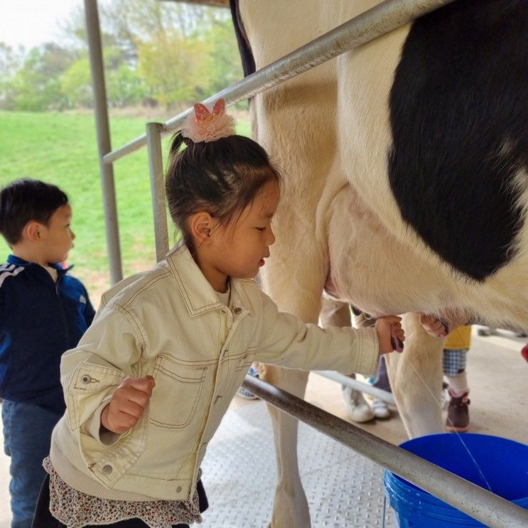
[[[58,21],[83,0],[0,0],[0,41],[32,48],[57,41]]]

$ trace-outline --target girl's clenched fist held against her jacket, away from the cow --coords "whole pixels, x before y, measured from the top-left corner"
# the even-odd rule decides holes
[[[115,389],[110,403],[102,410],[101,425],[112,433],[129,431],[149,405],[155,386],[152,376],[126,377]]]

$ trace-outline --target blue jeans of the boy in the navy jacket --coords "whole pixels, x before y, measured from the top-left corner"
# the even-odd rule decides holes
[[[53,427],[60,414],[38,405],[2,402],[4,450],[11,456],[12,528],[31,528],[38,492],[45,477],[42,460],[50,453]]]

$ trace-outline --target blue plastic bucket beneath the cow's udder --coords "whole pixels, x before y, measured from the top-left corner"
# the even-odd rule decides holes
[[[487,490],[469,450],[491,491],[528,509],[528,446],[524,443],[484,434],[444,433],[414,438],[400,447]],[[400,528],[485,526],[388,470],[384,483]]]

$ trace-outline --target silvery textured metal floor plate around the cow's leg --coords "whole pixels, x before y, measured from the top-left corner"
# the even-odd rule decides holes
[[[397,526],[387,505],[383,468],[299,424],[299,467],[313,528]],[[209,509],[203,528],[266,528],[276,481],[271,419],[264,402],[227,411],[202,465]]]

